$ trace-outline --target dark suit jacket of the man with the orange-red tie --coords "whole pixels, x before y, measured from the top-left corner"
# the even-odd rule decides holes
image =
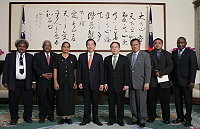
[[[82,53],[77,65],[77,84],[82,84],[83,89],[99,90],[104,85],[104,68],[102,55],[94,52],[90,69],[88,68],[88,52]]]

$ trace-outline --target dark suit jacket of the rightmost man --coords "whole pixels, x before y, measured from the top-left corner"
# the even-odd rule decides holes
[[[188,86],[189,83],[194,83],[198,67],[195,52],[185,48],[178,60],[178,50],[175,50],[172,52],[172,58],[174,62],[173,82],[178,86]]]

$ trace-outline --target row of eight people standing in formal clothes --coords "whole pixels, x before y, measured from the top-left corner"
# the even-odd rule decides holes
[[[47,118],[54,122],[54,95],[56,112],[61,117],[59,124],[72,124],[71,115],[75,113],[74,89],[83,90],[84,115],[80,126],[91,121],[102,126],[98,118],[99,92],[108,92],[109,121],[107,125],[117,123],[124,126],[124,95],[129,90],[132,119],[128,123],[145,127],[147,121],[156,117],[157,98],[160,98],[162,118],[170,123],[170,85],[174,86],[177,119],[174,123],[184,122],[191,125],[192,89],[197,70],[195,52],[186,48],[184,37],[177,40],[178,50],[172,54],[162,49],[163,40],[154,40],[154,49],[150,52],[140,50],[140,41],[132,39],[132,52],[127,56],[120,54],[120,43],[112,42],[112,54],[103,57],[95,52],[96,42],[86,41],[87,52],[76,56],[69,53],[70,43],[64,42],[61,54],[51,51],[51,42],[43,42],[43,51],[33,55],[26,49],[29,44],[20,39],[15,42],[17,52],[6,55],[3,70],[3,85],[9,90],[9,110],[11,125],[18,123],[18,102],[23,98],[24,121],[32,123],[32,89],[36,87],[39,105],[39,122]],[[169,80],[159,82],[163,76]],[[183,98],[186,114],[183,112]],[[92,109],[91,109],[92,105]],[[117,105],[117,113],[115,113]]]

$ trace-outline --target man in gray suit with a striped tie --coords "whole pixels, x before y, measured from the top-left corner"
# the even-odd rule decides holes
[[[140,41],[132,39],[130,42],[132,51],[127,55],[130,61],[131,85],[130,85],[130,108],[132,121],[129,125],[139,124],[145,127],[147,114],[146,99],[151,77],[151,61],[148,53],[140,51]]]

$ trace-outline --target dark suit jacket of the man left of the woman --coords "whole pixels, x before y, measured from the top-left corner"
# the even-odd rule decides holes
[[[49,82],[46,78],[41,77],[43,73],[53,73],[53,62],[55,60],[55,53],[50,52],[50,64],[48,65],[44,52],[39,52],[34,55],[33,70],[36,74],[37,85],[45,85]],[[53,81],[51,79],[50,81]]]

